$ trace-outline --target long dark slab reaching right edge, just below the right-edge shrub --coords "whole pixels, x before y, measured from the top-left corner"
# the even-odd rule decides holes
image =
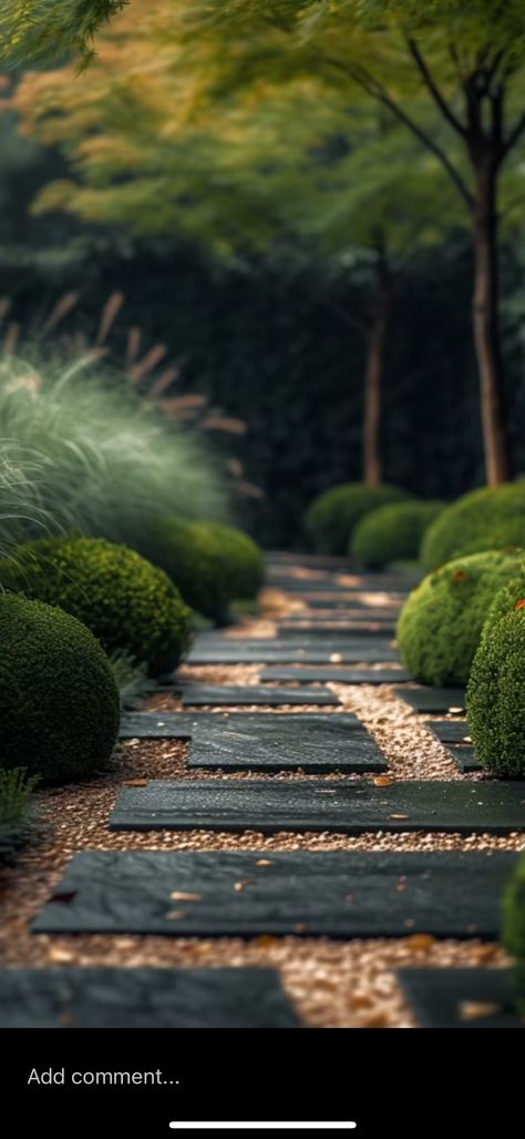
[[[386,830],[506,835],[523,827],[523,782],[294,782],[152,779],[125,787],[110,830]]]

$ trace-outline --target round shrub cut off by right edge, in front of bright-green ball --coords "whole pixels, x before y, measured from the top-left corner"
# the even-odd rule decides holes
[[[514,609],[484,631],[467,689],[476,757],[507,778],[525,776],[525,611]]]

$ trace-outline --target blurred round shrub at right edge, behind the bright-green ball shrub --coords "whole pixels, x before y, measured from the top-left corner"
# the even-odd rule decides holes
[[[525,482],[485,486],[448,506],[428,527],[420,560],[428,572],[451,558],[525,547]]]

